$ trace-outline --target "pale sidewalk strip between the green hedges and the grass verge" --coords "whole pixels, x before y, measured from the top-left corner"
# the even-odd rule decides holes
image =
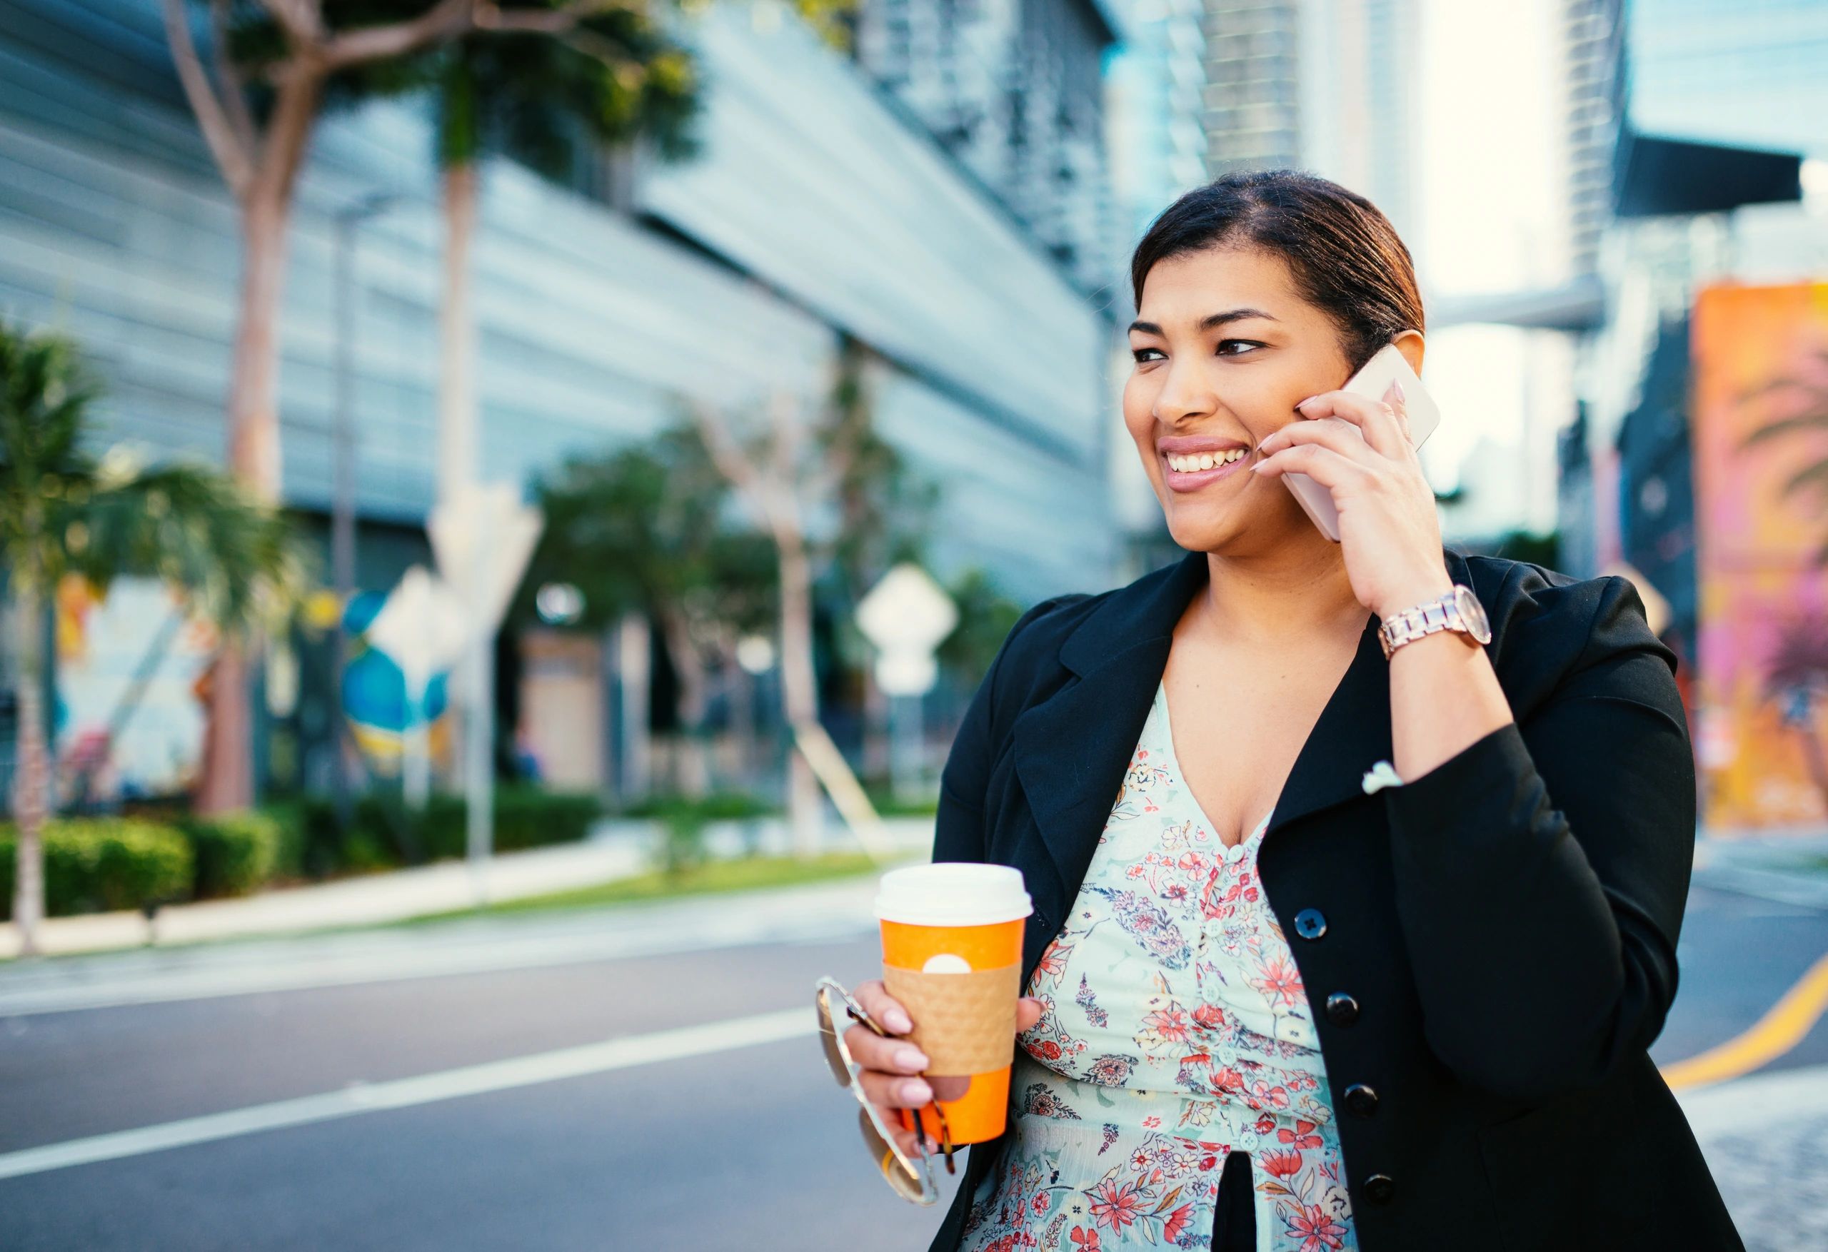
[[[898,850],[914,854],[932,846],[930,817],[892,817],[885,824]],[[634,877],[653,868],[658,841],[656,822],[605,821],[583,843],[492,857],[483,865],[481,885],[466,863],[441,861],[239,899],[170,905],[159,910],[152,934],[139,912],[49,918],[38,932],[38,947],[46,956],[62,956],[133,949],[148,939],[163,947],[408,921],[470,908],[477,903],[479,886],[481,899],[499,903]],[[713,857],[784,854],[788,848],[790,837],[781,819],[711,822],[706,828],[706,850]],[[843,822],[828,821],[824,850],[854,848],[857,843]],[[0,960],[9,956],[18,956],[18,928],[0,925]]]

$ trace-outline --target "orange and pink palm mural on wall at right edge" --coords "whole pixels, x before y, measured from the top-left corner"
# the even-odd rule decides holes
[[[1828,821],[1828,283],[1713,287],[1693,322],[1696,757],[1720,832]]]

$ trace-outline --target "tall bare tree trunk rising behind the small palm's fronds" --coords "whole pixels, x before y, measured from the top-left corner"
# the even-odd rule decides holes
[[[228,384],[228,468],[263,501],[278,501],[280,298],[285,291],[292,186],[311,141],[322,80],[296,75],[274,101],[260,174],[241,201],[241,307]],[[210,673],[208,729],[197,812],[254,802],[254,715],[249,669],[256,649],[225,636]]]

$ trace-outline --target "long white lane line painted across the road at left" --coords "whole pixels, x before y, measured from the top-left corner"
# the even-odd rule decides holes
[[[68,1170],[79,1164],[97,1164],[101,1161],[121,1161],[168,1148],[186,1148],[219,1139],[254,1135],[265,1130],[285,1130],[291,1126],[311,1126],[360,1113],[384,1113],[388,1109],[435,1104],[466,1095],[484,1095],[490,1091],[512,1091],[559,1078],[581,1078],[585,1075],[609,1073],[612,1069],[631,1069],[651,1066],[662,1060],[684,1060],[687,1056],[709,1056],[711,1053],[755,1047],[759,1044],[777,1044],[802,1034],[813,1034],[817,1022],[812,1005],[804,1009],[781,1009],[777,1013],[757,1013],[746,1018],[726,1022],[707,1022],[704,1025],[684,1025],[649,1034],[631,1034],[625,1038],[603,1040],[601,1044],[583,1044],[579,1047],[559,1047],[550,1053],[514,1056],[510,1060],[492,1060],[481,1066],[444,1069],[419,1075],[415,1078],[395,1078],[389,1082],[371,1082],[305,1095],[272,1104],[254,1104],[228,1109],[225,1113],[207,1113],[205,1117],[186,1117],[177,1122],[159,1126],[141,1126],[139,1130],[90,1135],[42,1148],[24,1148],[0,1153],[0,1179],[16,1179],[27,1173],[48,1170]]]

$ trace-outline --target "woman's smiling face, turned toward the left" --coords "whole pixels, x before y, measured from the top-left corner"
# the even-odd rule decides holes
[[[1294,291],[1287,261],[1228,247],[1157,261],[1130,351],[1124,426],[1177,545],[1252,556],[1320,534],[1289,488],[1250,473],[1298,402],[1351,375],[1338,329]]]

